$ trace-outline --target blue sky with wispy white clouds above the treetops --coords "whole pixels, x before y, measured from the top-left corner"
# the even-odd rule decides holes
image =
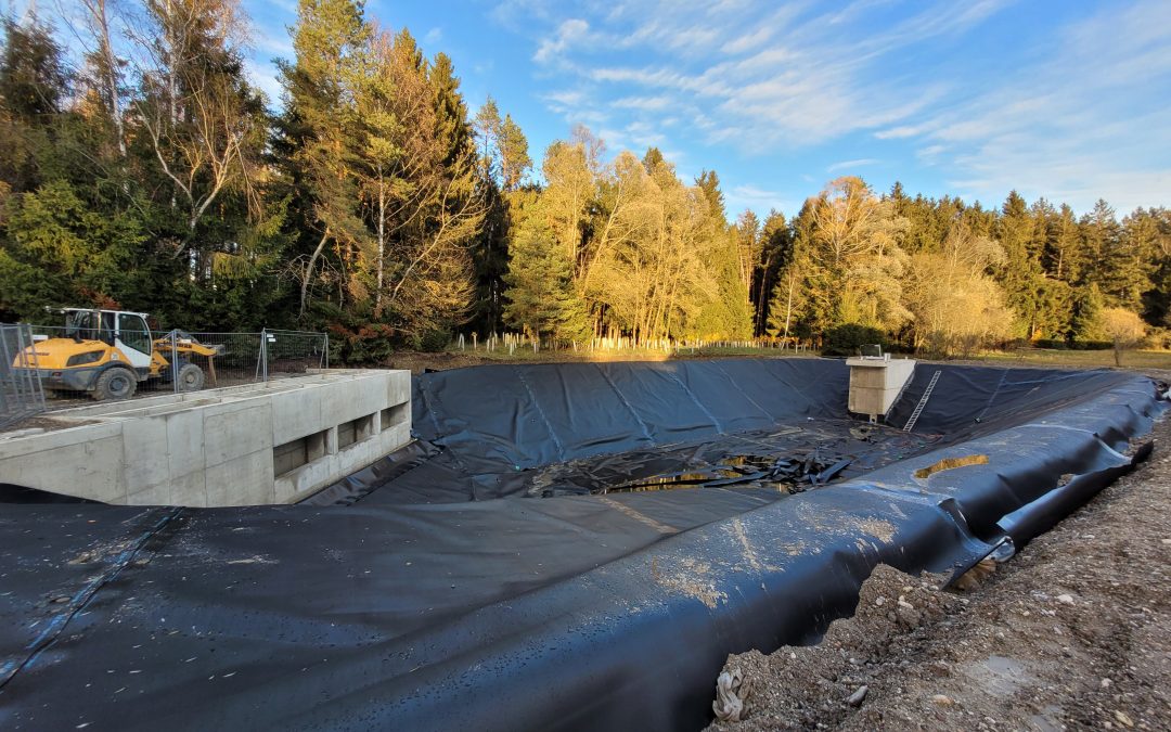
[[[242,0],[279,100],[296,0]],[[1171,205],[1171,0],[368,0],[470,108],[492,95],[540,160],[584,124],[610,155],[714,170],[730,214],[796,213],[827,182],[1011,190],[1083,213]],[[537,163],[539,164],[539,163]]]

